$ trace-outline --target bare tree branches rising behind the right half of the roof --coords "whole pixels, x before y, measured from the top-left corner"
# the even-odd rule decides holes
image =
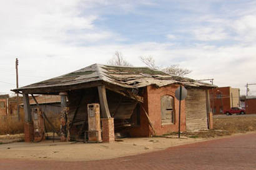
[[[165,68],[160,68],[155,64],[155,60],[153,59],[152,56],[149,56],[149,57],[140,56],[139,59],[150,68],[160,69],[162,70],[162,72],[169,73],[172,75],[184,76],[192,72],[192,70],[189,70],[187,68],[181,68],[179,64],[170,65],[169,67],[165,67]]]

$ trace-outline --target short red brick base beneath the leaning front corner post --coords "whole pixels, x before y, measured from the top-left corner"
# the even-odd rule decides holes
[[[102,118],[102,141],[103,142],[114,142],[115,133],[114,133],[114,118]]]

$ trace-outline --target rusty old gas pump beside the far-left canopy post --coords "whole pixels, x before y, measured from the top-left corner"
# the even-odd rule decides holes
[[[40,142],[46,139],[44,118],[40,108],[32,108],[32,120],[34,124],[34,142]]]

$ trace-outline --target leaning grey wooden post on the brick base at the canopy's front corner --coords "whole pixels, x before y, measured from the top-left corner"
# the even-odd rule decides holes
[[[102,113],[102,118],[111,118],[109,113],[109,105],[107,105],[106,87],[104,85],[98,86],[99,102]]]

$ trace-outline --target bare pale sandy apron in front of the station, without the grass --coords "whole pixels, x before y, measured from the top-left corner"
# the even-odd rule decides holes
[[[159,151],[180,144],[205,139],[177,138],[124,138],[114,143],[11,143],[0,145],[0,158],[57,159],[62,161],[91,161],[111,159],[151,151]]]

